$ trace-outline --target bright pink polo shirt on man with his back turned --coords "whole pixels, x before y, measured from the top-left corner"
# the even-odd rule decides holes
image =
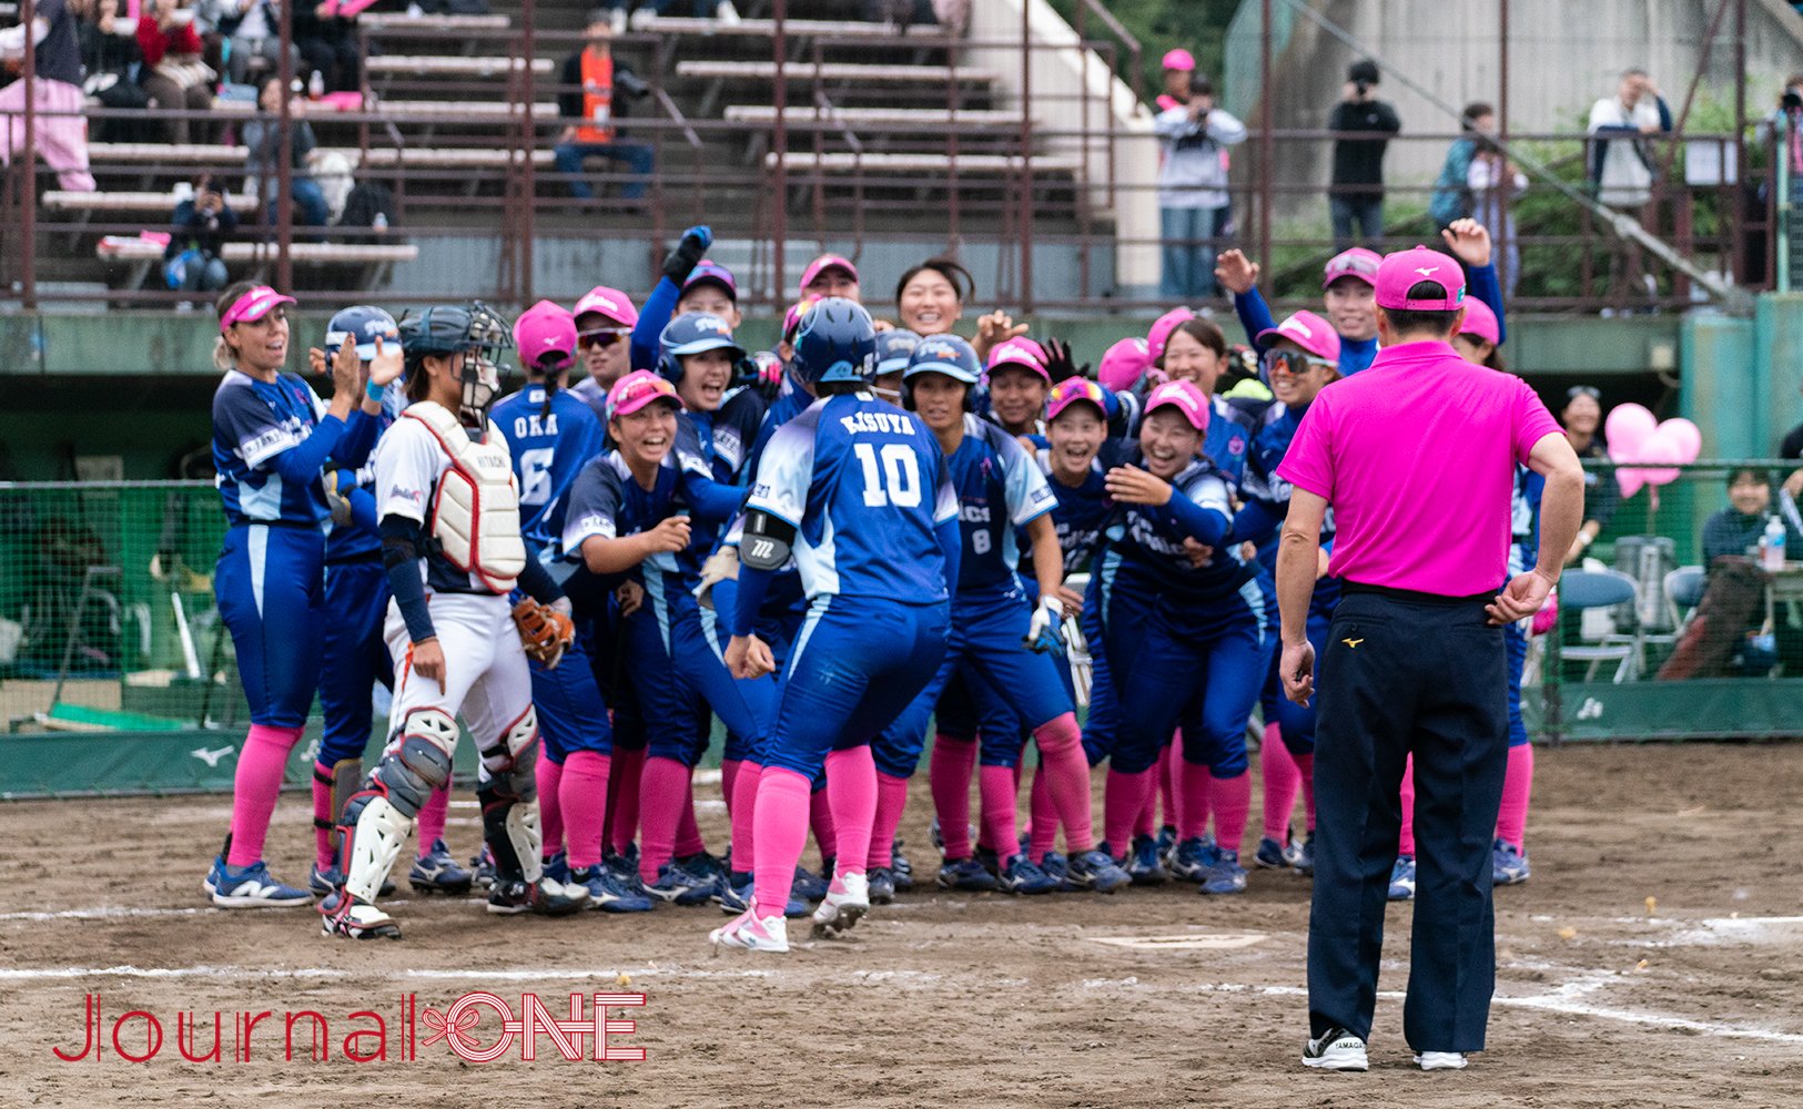
[[[1332,577],[1469,597],[1509,579],[1515,463],[1549,435],[1522,379],[1403,343],[1322,390],[1277,476],[1334,507]]]

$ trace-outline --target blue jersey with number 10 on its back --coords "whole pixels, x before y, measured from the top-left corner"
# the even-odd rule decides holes
[[[957,516],[952,474],[927,426],[871,393],[815,400],[783,424],[746,509],[795,527],[808,597],[947,599],[934,528]]]

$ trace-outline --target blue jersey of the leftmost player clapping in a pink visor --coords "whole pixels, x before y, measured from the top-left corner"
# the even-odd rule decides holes
[[[274,469],[276,456],[305,442],[325,415],[326,402],[299,375],[261,382],[225,371],[213,393],[213,467],[227,525],[321,525],[332,514],[317,472],[294,483]]]

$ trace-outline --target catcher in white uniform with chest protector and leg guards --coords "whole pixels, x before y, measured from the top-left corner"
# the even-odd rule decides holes
[[[400,938],[375,894],[420,806],[451,777],[458,712],[481,752],[476,797],[496,860],[489,912],[557,916],[588,898],[546,878],[539,858],[526,653],[555,665],[573,626],[563,590],[526,557],[507,440],[487,417],[494,353],[510,344],[507,321],[480,301],[400,321],[411,404],[373,454],[395,701],[382,761],[339,815],[344,885],[319,907],[328,936]],[[516,584],[526,600],[510,608]]]

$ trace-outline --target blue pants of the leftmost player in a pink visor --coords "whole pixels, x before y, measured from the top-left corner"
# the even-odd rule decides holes
[[[319,528],[252,523],[225,532],[213,593],[238,653],[251,723],[307,723],[325,656],[325,555]]]

